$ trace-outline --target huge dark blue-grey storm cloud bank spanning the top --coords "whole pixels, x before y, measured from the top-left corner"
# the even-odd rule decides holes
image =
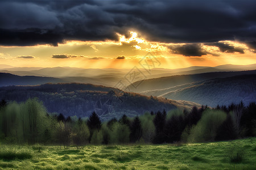
[[[255,7],[256,1],[250,0],[2,1],[0,44],[117,40],[115,32],[127,34],[128,30],[151,41],[252,42],[256,41]]]

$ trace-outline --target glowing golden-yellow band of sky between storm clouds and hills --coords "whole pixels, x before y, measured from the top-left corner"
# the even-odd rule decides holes
[[[174,53],[171,44],[150,42],[130,32],[129,37],[118,35],[119,41],[67,41],[58,46],[0,46],[0,64],[15,67],[82,67],[130,69],[139,65],[139,61],[150,52],[159,62],[155,67],[176,69],[189,66],[217,66],[224,64],[248,65],[256,63],[256,53],[245,44],[234,41],[222,41],[244,49],[244,54],[221,52],[217,46],[200,44],[207,55],[188,57]],[[66,58],[52,58],[66,56]],[[125,59],[117,59],[125,56]],[[122,58],[122,57],[121,57]],[[147,58],[148,62],[150,59]]]

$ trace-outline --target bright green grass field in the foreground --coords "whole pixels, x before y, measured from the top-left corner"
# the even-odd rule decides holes
[[[183,145],[88,145],[79,149],[0,147],[0,169],[256,169],[256,138]],[[235,159],[231,160],[232,155]]]

